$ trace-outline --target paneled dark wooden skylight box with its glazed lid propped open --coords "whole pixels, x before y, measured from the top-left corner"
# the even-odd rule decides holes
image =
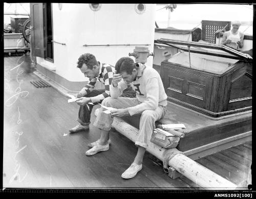
[[[158,39],[180,52],[161,63],[170,102],[220,117],[251,109],[252,58],[224,45]]]

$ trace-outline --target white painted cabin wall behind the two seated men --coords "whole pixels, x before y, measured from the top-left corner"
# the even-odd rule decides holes
[[[131,46],[83,46],[105,44],[150,44],[154,52],[155,4],[145,4],[145,12],[138,14],[136,4],[101,4],[98,11],[89,4],[52,4],[53,60],[36,57],[37,64],[54,70],[70,82],[85,81],[76,67],[80,55],[94,54],[103,63],[115,65],[121,57],[133,53]],[[134,57],[131,57],[135,59]],[[152,67],[153,56],[146,65]]]

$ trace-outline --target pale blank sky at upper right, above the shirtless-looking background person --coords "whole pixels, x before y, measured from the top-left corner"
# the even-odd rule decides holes
[[[156,22],[159,28],[166,28],[168,23],[168,11],[164,5],[156,6]],[[161,10],[160,10],[161,9]],[[170,27],[190,30],[195,27],[201,28],[202,20],[253,21],[252,5],[234,4],[177,4],[177,8],[170,13]],[[252,35],[252,26],[241,26],[240,31]]]

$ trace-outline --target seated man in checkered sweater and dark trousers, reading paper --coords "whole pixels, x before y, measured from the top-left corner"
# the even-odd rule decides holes
[[[84,77],[88,77],[90,81],[75,94],[75,97],[78,98],[76,103],[80,106],[77,119],[79,125],[70,129],[71,133],[89,129],[93,106],[101,103],[104,98],[109,97],[110,85],[115,72],[113,66],[98,62],[95,56],[89,53],[79,57],[77,67],[84,74]],[[105,85],[105,89],[94,89],[97,80]],[[136,92],[131,87],[128,87],[123,92],[123,97],[135,96]],[[88,103],[93,103],[94,105]]]

